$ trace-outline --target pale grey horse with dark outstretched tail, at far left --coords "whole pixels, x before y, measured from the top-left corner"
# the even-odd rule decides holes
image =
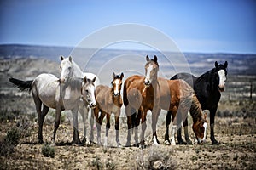
[[[44,117],[49,108],[55,109],[55,128],[52,138],[52,144],[55,144],[55,133],[60,124],[61,111],[71,110],[73,113],[77,113],[81,105],[90,106],[91,108],[96,106],[94,85],[96,78],[90,80],[87,77],[84,77],[84,79],[69,77],[67,82],[62,85],[55,75],[43,73],[33,81],[21,81],[15,78],[9,78],[9,81],[20,88],[21,91],[32,91],[32,97],[38,112],[39,143],[43,143]],[[77,130],[74,129],[74,131]],[[75,134],[78,133],[73,133],[73,143],[77,143],[79,140],[79,136]]]

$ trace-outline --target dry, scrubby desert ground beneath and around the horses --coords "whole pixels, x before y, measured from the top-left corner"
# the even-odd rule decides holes
[[[48,66],[46,68],[42,65]],[[161,112],[157,124],[160,145],[150,144],[150,112],[148,112],[145,149],[125,147],[127,135],[125,116],[120,118],[119,134],[122,147],[115,147],[113,122],[108,135],[110,145],[108,148],[96,144],[95,127],[94,143],[73,145],[70,144],[73,138],[72,116],[69,111],[63,111],[56,145],[53,146],[55,156],[44,156],[42,153],[44,144],[38,144],[37,139],[37,113],[32,94],[19,92],[8,82],[8,78],[31,80],[35,75],[45,71],[59,75],[56,68],[58,63],[48,59],[1,59],[0,169],[256,169],[256,101],[255,94],[253,99],[249,98],[246,84],[248,81],[255,82],[255,76],[244,75],[229,76],[226,90],[218,104],[215,137],[219,145],[212,145],[209,128],[205,144],[165,145],[166,111]],[[254,89],[253,93],[255,93]],[[243,91],[246,93],[243,94]],[[50,110],[44,122],[45,144],[51,141],[54,121],[55,112]],[[79,134],[82,139],[81,124],[79,122]],[[104,127],[105,122],[102,125],[102,139]],[[18,130],[20,139],[12,148],[13,146],[9,144],[4,145],[3,141],[14,129]],[[90,132],[89,125],[88,132]],[[190,139],[195,139],[191,127],[189,127],[189,135]]]

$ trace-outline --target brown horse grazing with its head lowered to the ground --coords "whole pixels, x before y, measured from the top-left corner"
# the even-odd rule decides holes
[[[160,109],[172,111],[172,136],[171,144],[175,144],[174,133],[181,117],[187,117],[188,111],[193,118],[193,131],[199,143],[206,139],[207,115],[201,110],[201,105],[195,96],[193,88],[183,80],[166,80],[159,77],[160,84]],[[184,120],[183,120],[184,121]],[[169,123],[166,122],[166,144],[169,142]],[[155,139],[153,139],[155,143]]]

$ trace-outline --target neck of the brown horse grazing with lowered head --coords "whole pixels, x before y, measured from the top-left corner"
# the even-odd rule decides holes
[[[202,119],[202,110],[201,110],[201,105],[196,98],[195,94],[191,95],[191,106],[190,106],[190,115],[193,118],[193,122],[198,122]]]

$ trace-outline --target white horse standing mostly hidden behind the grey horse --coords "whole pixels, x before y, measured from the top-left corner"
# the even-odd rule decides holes
[[[61,78],[60,78],[61,83],[65,84],[68,77],[87,77],[87,78],[90,78],[90,79],[96,77],[96,81],[94,82],[94,84],[95,84],[95,86],[100,85],[100,79],[93,73],[83,72],[80,69],[79,65],[77,65],[73,61],[71,56],[69,56],[68,58],[64,58],[63,56],[61,56],[60,69],[61,69]],[[82,115],[83,122],[84,122],[84,139],[83,139],[83,143],[84,143],[86,141],[86,138],[87,138],[86,137],[86,123],[85,123],[85,120],[88,117],[89,108],[84,107],[84,105],[79,106],[79,112]],[[90,141],[93,141],[93,124],[94,124],[94,113],[93,113],[93,110],[91,110],[91,114],[90,114]],[[74,113],[74,112],[73,112],[73,126],[76,129],[78,129],[78,127],[79,127],[78,113]]]

